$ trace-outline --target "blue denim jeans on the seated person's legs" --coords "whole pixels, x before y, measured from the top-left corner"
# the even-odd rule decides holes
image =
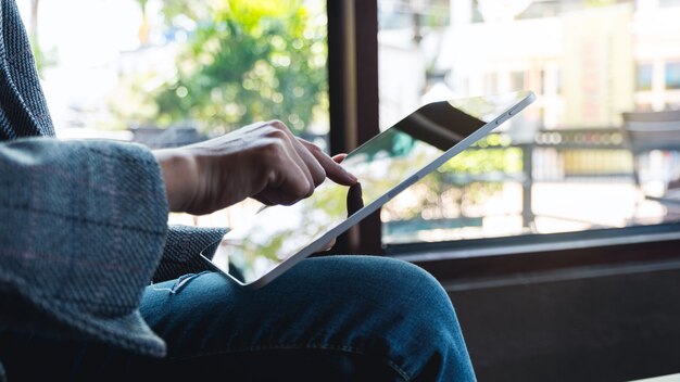
[[[0,359],[9,381],[46,375],[60,381],[475,380],[441,285],[420,268],[391,258],[307,258],[255,291],[203,272],[148,286],[140,309],[167,342],[166,358],[4,331]]]

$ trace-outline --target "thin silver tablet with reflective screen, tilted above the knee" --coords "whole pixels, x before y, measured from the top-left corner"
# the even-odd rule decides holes
[[[240,285],[260,288],[529,105],[530,91],[426,104],[350,152],[353,187],[326,179],[289,206],[262,209],[201,256]]]

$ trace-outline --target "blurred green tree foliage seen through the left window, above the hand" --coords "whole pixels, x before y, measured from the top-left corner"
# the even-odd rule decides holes
[[[301,131],[326,116],[323,12],[312,15],[295,0],[168,0],[163,11],[168,31],[187,40],[174,75],[137,86],[147,89],[141,102],[153,104],[135,115],[139,123],[190,120],[222,133],[281,119]]]

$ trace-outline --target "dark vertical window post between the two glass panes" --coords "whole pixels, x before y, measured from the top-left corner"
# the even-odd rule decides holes
[[[328,0],[326,7],[330,152],[347,153],[380,132],[378,1]],[[340,235],[333,252],[383,253],[380,211]]]

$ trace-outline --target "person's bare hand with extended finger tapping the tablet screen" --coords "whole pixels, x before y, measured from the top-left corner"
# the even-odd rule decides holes
[[[326,178],[356,183],[336,162],[342,156],[333,161],[278,120],[154,155],[173,212],[207,214],[247,198],[288,205],[310,196]]]

